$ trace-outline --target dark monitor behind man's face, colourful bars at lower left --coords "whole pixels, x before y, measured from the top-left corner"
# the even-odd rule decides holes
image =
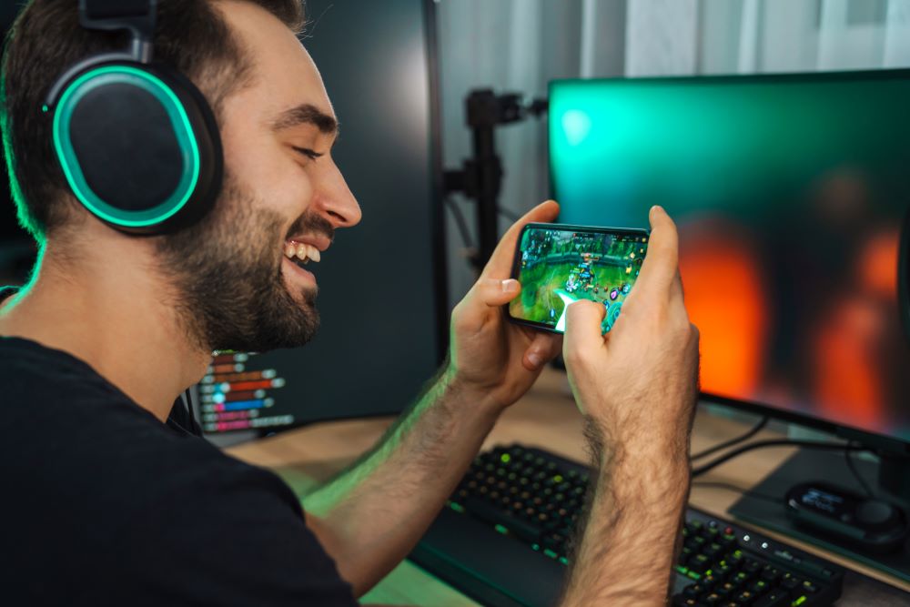
[[[435,5],[308,0],[306,8],[303,43],[341,123],[332,154],[363,219],[339,230],[314,269],[315,339],[216,357],[198,386],[209,435],[398,413],[447,343]]]

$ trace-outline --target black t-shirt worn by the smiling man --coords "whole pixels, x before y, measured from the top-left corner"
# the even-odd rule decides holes
[[[288,486],[186,427],[0,338],[0,604],[356,604]]]

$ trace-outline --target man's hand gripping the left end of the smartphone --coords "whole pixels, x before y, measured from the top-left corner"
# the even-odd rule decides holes
[[[510,278],[521,228],[550,222],[559,210],[549,200],[509,228],[480,278],[452,311],[450,379],[493,406],[506,407],[521,398],[562,348],[560,335],[516,325],[502,310],[521,293],[519,282]]]

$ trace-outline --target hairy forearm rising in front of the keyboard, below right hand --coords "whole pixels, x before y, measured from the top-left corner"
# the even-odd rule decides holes
[[[664,605],[689,495],[685,448],[597,438],[594,450],[598,481],[562,605]]]

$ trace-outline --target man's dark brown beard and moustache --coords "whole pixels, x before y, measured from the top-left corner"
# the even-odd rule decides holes
[[[157,243],[177,289],[174,307],[195,345],[208,351],[263,352],[307,343],[319,329],[317,288],[290,293],[281,271],[279,214],[226,178],[212,211]],[[286,238],[303,232],[329,238],[328,220],[308,212]]]

